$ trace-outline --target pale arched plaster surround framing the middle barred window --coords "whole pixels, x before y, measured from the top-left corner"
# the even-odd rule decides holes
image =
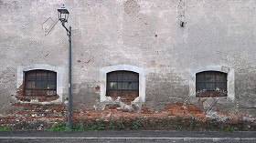
[[[139,74],[139,97],[133,103],[144,102],[145,100],[145,74],[144,69],[131,65],[104,66],[100,69],[101,102],[113,102],[112,97],[106,97],[107,73],[118,70],[133,71]]]

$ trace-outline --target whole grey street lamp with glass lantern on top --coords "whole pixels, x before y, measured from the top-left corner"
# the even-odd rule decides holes
[[[61,22],[61,25],[66,29],[67,35],[69,36],[69,97],[68,97],[68,127],[69,130],[72,128],[72,113],[71,113],[71,102],[72,102],[72,97],[71,97],[71,26],[69,26],[69,29],[65,26],[65,23],[68,23],[68,18],[69,18],[69,11],[65,8],[64,5],[61,5],[61,7],[58,10],[59,14],[59,21]]]

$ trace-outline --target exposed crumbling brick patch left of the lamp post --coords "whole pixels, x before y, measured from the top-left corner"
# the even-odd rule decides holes
[[[58,121],[67,121],[67,107],[64,104],[16,103],[13,106],[20,109],[16,112],[16,115],[0,117],[0,124],[2,126],[11,125],[16,127],[19,125],[18,129],[21,129],[28,128],[24,126],[27,126],[29,123],[38,123],[38,121],[44,122],[46,126]]]

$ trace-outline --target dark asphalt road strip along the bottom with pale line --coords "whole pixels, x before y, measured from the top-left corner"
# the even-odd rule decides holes
[[[0,142],[18,143],[150,143],[150,142],[246,142],[256,143],[256,132],[168,131],[168,130],[104,130],[50,132],[20,130],[0,132]]]

